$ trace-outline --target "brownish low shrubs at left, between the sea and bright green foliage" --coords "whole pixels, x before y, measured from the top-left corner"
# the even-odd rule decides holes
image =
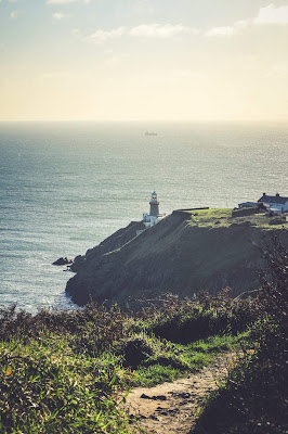
[[[126,316],[117,306],[109,310],[88,304],[78,310],[41,309],[32,316],[17,310],[16,305],[0,309],[0,340],[19,337],[23,342],[39,339],[42,333],[66,335],[75,352],[93,355],[109,348],[123,337]]]

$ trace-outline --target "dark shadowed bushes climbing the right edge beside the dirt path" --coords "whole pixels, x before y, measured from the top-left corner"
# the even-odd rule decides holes
[[[228,379],[207,400],[193,434],[288,432],[288,252],[279,237],[264,257],[259,320],[250,345]]]

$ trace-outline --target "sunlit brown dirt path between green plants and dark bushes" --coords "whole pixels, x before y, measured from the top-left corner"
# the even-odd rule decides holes
[[[225,354],[200,372],[173,383],[132,390],[125,404],[131,426],[147,434],[188,434],[196,408],[209,391],[217,388],[218,381],[226,376],[233,356]]]

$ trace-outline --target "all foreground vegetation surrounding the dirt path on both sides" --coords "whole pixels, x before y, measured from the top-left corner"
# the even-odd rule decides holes
[[[1,433],[131,433],[119,405],[135,385],[241,356],[194,433],[285,433],[288,255],[267,247],[270,277],[254,299],[230,290],[197,302],[166,295],[136,314],[89,304],[74,311],[0,310]]]

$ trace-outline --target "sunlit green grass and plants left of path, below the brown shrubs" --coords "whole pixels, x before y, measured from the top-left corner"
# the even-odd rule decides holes
[[[123,367],[126,339],[97,356],[75,352],[70,334],[43,332],[27,342],[1,342],[0,431],[125,434],[128,424],[114,399],[117,390],[187,375],[240,339],[211,336],[181,345],[141,333],[129,340],[140,337],[150,350],[134,370]]]

